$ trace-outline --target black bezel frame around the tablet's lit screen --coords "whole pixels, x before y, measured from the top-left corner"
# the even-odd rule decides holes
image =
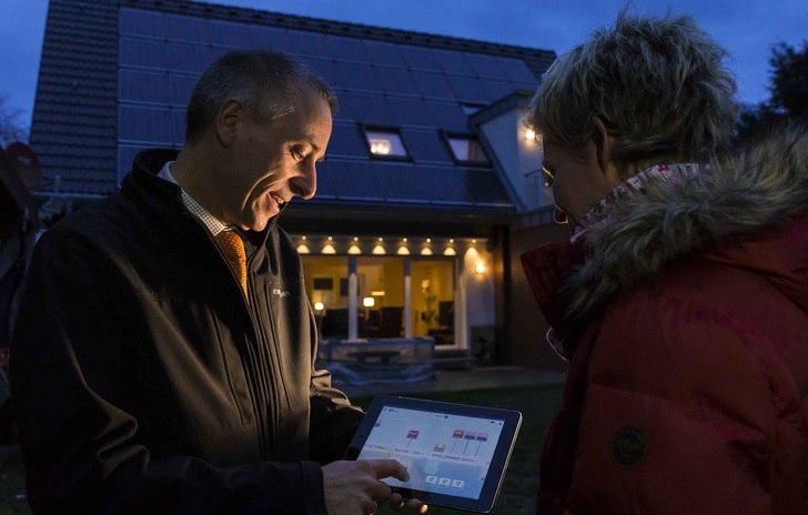
[[[475,513],[489,513],[494,508],[499,495],[499,489],[502,488],[502,483],[505,478],[505,471],[511,460],[511,454],[513,453],[514,445],[516,444],[519,427],[522,426],[522,413],[497,407],[455,404],[394,395],[376,395],[367,408],[362,424],[356,430],[356,433],[351,441],[351,445],[345,452],[345,460],[356,460],[358,457],[362,446],[365,444],[371,431],[373,431],[376,418],[378,418],[378,415],[382,413],[382,408],[385,406],[416,410],[427,413],[444,413],[476,418],[502,420],[502,432],[499,434],[499,440],[496,443],[496,448],[494,450],[488,472],[485,475],[485,482],[483,483],[479,497],[459,497],[414,488],[392,486],[393,492],[401,493],[404,498],[417,498],[426,504],[435,506],[464,509]]]

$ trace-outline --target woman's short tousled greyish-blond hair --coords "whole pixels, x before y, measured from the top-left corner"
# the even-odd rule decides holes
[[[729,148],[737,118],[726,57],[689,16],[624,10],[614,27],[549,67],[526,121],[548,141],[577,149],[599,118],[623,173],[655,158],[709,161]]]

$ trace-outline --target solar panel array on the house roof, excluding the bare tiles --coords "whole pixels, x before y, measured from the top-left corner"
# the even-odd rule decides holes
[[[456,164],[441,131],[469,132],[464,104],[533,90],[521,59],[137,8],[119,17],[119,180],[138,151],[183,144],[185,105],[211,61],[264,48],[299,57],[340,100],[316,198],[511,205],[496,172]],[[398,129],[411,160],[374,160],[365,125]]]

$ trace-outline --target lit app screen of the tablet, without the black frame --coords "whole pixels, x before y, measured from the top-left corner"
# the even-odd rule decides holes
[[[479,498],[503,421],[385,406],[358,460],[394,458],[410,472],[392,486]]]

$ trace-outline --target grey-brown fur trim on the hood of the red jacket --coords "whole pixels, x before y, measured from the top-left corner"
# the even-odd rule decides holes
[[[808,226],[808,133],[771,134],[710,172],[650,179],[646,185],[622,196],[605,220],[587,229],[586,258],[564,284],[568,316],[587,317],[615,293],[696,253],[770,275],[808,311],[808,229],[801,238],[777,242],[796,221]],[[753,240],[780,244],[769,252],[794,259],[778,259],[782,266],[772,267],[759,251],[747,252]]]

